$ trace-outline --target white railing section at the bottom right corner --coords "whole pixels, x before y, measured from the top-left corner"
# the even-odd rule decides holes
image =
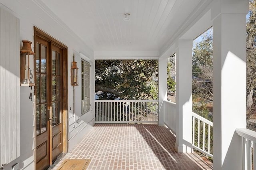
[[[242,137],[242,170],[256,170],[256,132],[247,128],[237,128],[236,133]]]

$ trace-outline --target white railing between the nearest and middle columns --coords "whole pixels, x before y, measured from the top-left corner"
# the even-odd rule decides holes
[[[192,146],[212,157],[212,122],[192,112]]]

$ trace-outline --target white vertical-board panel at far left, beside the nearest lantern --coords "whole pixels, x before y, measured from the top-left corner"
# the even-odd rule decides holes
[[[0,165],[20,156],[20,21],[0,8]]]

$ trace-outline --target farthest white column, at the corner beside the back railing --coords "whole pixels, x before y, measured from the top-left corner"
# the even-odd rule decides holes
[[[165,105],[164,100],[167,99],[167,57],[160,57],[158,59],[158,98],[159,98],[159,111],[158,111],[158,125],[164,126]]]

